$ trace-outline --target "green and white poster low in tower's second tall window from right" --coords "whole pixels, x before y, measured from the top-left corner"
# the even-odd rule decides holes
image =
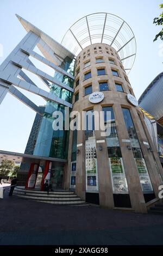
[[[112,190],[115,194],[128,194],[126,174],[121,157],[109,157]]]

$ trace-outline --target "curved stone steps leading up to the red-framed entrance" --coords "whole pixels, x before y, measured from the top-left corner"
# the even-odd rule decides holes
[[[13,196],[55,205],[88,205],[73,191],[59,189],[54,192],[49,191],[49,194],[47,194],[45,191],[25,189],[22,186],[17,186],[15,187]]]

